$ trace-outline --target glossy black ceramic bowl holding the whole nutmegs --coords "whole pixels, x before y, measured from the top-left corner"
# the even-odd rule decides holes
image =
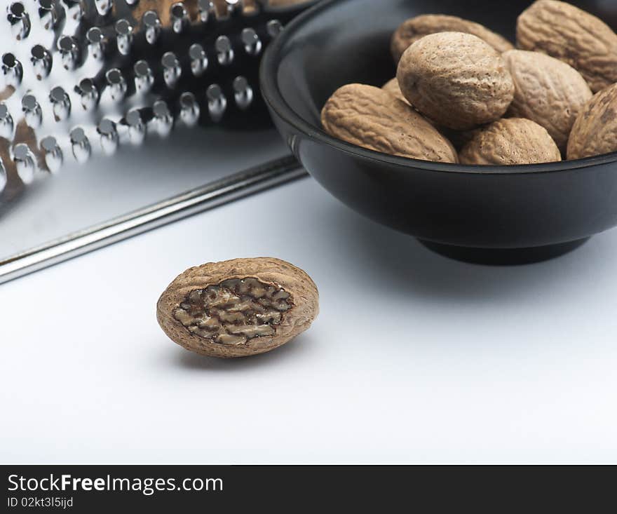
[[[617,1],[572,3],[617,27]],[[406,18],[447,13],[515,38],[529,0],[329,0],[294,20],[268,48],[262,93],[306,170],[351,208],[434,250],[484,262],[560,255],[617,225],[617,153],[507,167],[388,156],[327,135],[320,110],[346,83],[395,75],[389,43]]]

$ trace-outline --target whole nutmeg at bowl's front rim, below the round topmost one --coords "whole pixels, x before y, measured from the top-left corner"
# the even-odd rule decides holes
[[[545,128],[524,118],[491,123],[459,154],[462,164],[515,165],[561,161],[557,144]]]

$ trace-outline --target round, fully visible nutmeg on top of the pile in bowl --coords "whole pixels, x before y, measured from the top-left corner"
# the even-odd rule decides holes
[[[501,54],[462,32],[440,32],[416,41],[403,53],[396,77],[416,109],[454,130],[500,119],[514,97]]]

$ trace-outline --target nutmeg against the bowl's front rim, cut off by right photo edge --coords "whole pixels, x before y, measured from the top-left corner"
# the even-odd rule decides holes
[[[617,83],[595,95],[578,115],[568,142],[568,158],[617,151]]]

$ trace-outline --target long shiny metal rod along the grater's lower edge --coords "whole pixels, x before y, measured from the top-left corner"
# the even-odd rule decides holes
[[[268,161],[2,259],[0,283],[307,175],[292,155]]]

